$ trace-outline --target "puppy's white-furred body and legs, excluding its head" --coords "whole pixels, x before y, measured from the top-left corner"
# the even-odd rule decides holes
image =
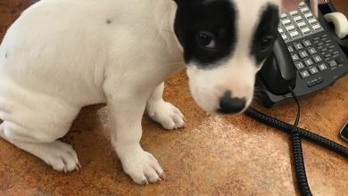
[[[160,0],[32,5],[0,47],[1,136],[54,169],[71,171],[79,168],[70,156],[75,151],[63,151],[68,145],[56,139],[81,107],[107,102],[112,144],[125,171],[137,184],[158,181],[162,168],[139,145],[141,118],[148,100],[149,113],[163,127],[184,125],[178,109],[162,100],[162,81],[183,69],[178,41],[169,33],[175,11],[174,2]]]

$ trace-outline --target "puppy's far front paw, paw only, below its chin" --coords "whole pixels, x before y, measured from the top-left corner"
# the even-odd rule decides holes
[[[160,123],[165,129],[174,129],[185,126],[184,115],[170,102],[153,102],[147,108],[150,118]]]

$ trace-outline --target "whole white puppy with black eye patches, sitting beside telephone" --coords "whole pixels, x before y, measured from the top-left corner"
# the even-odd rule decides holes
[[[106,102],[112,145],[137,184],[164,177],[139,144],[144,111],[184,126],[162,99],[185,69],[195,101],[238,113],[278,34],[280,0],[41,0],[0,46],[0,136],[57,171],[79,169],[65,135],[81,107]]]

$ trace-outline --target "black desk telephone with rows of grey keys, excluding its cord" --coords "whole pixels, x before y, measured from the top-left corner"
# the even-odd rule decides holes
[[[336,36],[335,27],[324,18],[329,12],[336,12],[334,4],[320,4],[316,19],[307,2],[281,15],[273,53],[256,78],[264,106],[291,98],[288,86],[304,96],[332,85],[348,72],[348,37]]]

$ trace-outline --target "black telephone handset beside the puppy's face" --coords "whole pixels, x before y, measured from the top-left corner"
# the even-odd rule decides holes
[[[278,35],[273,46],[273,53],[265,61],[259,72],[261,80],[273,94],[288,94],[288,86],[296,86],[296,69],[287,50],[286,43]]]

